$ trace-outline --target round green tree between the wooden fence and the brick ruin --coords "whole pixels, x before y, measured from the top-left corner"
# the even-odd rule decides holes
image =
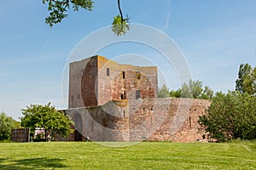
[[[47,105],[30,105],[26,109],[22,109],[21,125],[22,127],[30,127],[32,131],[36,127],[44,127],[45,137],[67,136],[70,132],[71,122],[63,111],[56,111],[50,103]]]

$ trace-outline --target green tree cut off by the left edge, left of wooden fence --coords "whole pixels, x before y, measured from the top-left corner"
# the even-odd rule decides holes
[[[15,120],[5,113],[0,114],[0,140],[7,140],[12,129],[15,127]]]

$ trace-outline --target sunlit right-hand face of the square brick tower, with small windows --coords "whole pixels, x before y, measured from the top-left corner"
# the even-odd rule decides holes
[[[98,104],[109,100],[136,99],[157,96],[157,67],[120,65],[102,56],[98,59]]]

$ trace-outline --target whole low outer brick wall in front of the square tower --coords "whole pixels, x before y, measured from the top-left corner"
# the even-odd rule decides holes
[[[205,99],[133,99],[67,110],[80,114],[83,135],[93,141],[174,141],[202,139],[199,116],[210,105]]]

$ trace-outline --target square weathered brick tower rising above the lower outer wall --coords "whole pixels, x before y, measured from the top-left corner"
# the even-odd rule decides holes
[[[120,65],[100,55],[70,64],[68,108],[157,97],[157,67]]]

